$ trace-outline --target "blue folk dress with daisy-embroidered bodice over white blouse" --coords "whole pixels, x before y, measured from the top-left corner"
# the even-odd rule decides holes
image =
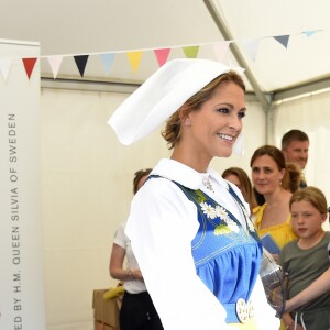
[[[207,194],[174,182],[197,207],[199,229],[191,243],[198,276],[227,311],[227,323],[244,323],[253,317],[249,299],[258,276],[262,244],[241,199],[229,193],[244,215],[246,228]],[[240,310],[243,301],[249,308]],[[248,315],[246,315],[248,310]]]

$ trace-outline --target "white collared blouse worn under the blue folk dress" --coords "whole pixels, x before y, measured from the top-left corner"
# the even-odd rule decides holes
[[[191,254],[191,241],[199,228],[196,206],[170,180],[201,189],[245,226],[228,191],[228,182],[212,169],[200,174],[173,160],[161,160],[152,174],[165,178],[148,179],[134,196],[125,232],[165,330],[233,329],[224,321],[222,305],[196,274]],[[202,184],[206,175],[215,193]],[[232,187],[243,200],[240,190]],[[260,278],[252,300],[260,329],[277,330],[279,321],[266,301]]]

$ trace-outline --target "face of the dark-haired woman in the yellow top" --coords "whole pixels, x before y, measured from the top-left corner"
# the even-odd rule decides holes
[[[263,155],[252,164],[252,182],[257,193],[273,194],[279,186],[285,169],[279,170],[276,162],[268,155]]]

